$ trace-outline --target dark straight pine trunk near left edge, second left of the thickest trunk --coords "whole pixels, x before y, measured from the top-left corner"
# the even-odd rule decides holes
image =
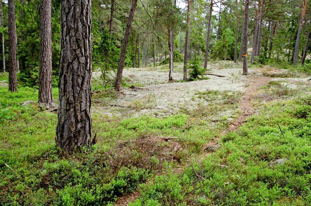
[[[17,37],[16,37],[14,0],[8,1],[8,32],[9,32],[9,91],[17,91],[18,62],[16,57]]]

